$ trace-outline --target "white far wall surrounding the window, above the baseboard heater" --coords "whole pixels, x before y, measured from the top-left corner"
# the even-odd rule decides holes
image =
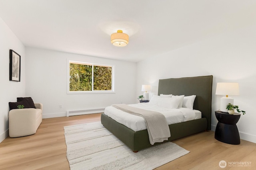
[[[114,65],[116,93],[67,94],[68,60]],[[66,116],[67,110],[132,104],[135,87],[136,63],[26,47],[26,96],[43,104],[43,118]]]

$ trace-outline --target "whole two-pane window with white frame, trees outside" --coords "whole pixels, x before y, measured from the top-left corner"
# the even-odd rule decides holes
[[[69,61],[68,93],[114,92],[114,66]]]

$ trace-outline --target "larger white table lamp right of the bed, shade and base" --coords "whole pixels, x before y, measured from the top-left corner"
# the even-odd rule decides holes
[[[220,111],[228,112],[226,106],[230,104],[234,104],[234,99],[228,97],[231,96],[239,96],[239,84],[237,82],[221,82],[217,83],[216,86],[216,95],[226,95],[226,97],[220,98]]]

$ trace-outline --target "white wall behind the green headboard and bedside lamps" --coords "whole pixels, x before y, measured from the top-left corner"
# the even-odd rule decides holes
[[[234,104],[246,111],[237,123],[240,138],[256,143],[256,27],[216,35],[204,41],[146,59],[137,64],[137,95],[141,84],[151,84],[157,94],[158,79],[213,75],[212,130],[218,123],[214,111],[220,109],[220,98],[215,95],[217,82],[238,82],[240,96]],[[252,34],[254,33],[254,34]],[[148,69],[144,69],[146,68]]]

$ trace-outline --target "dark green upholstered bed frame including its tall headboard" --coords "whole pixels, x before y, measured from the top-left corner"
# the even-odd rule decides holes
[[[201,119],[169,125],[171,137],[168,138],[168,141],[211,129],[212,78],[213,76],[198,76],[159,80],[158,95],[196,95],[194,109],[202,112]],[[134,152],[152,146],[149,142],[147,129],[135,132],[104,113],[101,115],[101,123]],[[154,145],[158,144],[155,143]]]

